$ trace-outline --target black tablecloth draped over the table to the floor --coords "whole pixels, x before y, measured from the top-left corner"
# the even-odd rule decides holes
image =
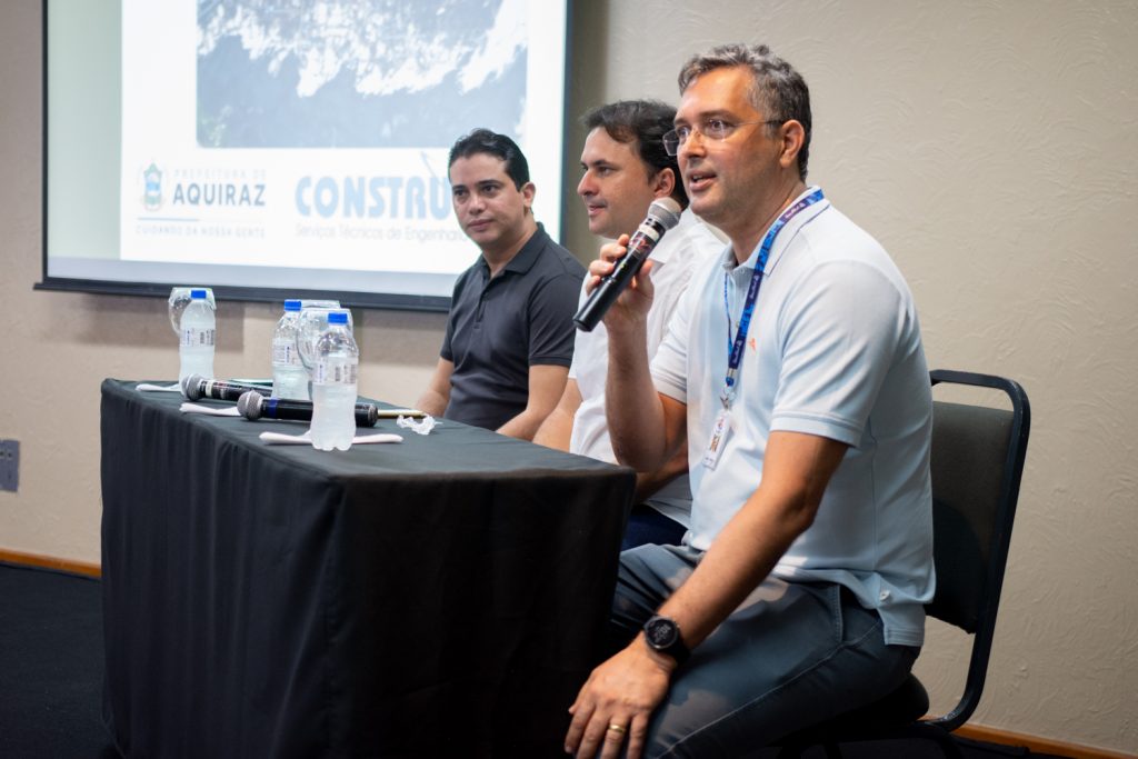
[[[304,426],[181,401],[102,385],[104,712],[122,751],[560,753],[629,470],[454,422],[270,446],[259,432]]]

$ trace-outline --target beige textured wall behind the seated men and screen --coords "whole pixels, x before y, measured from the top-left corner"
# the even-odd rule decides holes
[[[616,98],[675,100],[682,60],[731,39],[766,41],[801,69],[815,101],[810,179],[908,277],[930,364],[1013,377],[1031,396],[1020,518],[974,721],[1138,752],[1138,245],[1124,221],[1138,211],[1138,7],[575,5],[574,114]],[[0,437],[19,439],[23,456],[19,493],[0,493],[0,547],[97,561],[99,381],[171,377],[175,352],[158,299],[32,291],[39,35],[39,3],[0,10]],[[580,139],[575,130],[570,151]],[[592,255],[578,208],[569,222],[570,247]],[[221,305],[220,374],[264,373],[275,312]],[[442,317],[357,319],[361,391],[413,402]],[[940,652],[918,670],[943,707],[963,647],[940,628],[929,647]]]

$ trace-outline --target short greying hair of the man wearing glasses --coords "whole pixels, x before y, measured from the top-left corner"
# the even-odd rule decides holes
[[[767,118],[785,123],[794,119],[806,132],[802,149],[798,151],[798,175],[806,181],[806,167],[810,158],[810,132],[814,119],[810,116],[810,90],[806,80],[793,66],[770,52],[765,44],[724,44],[710,52],[693,56],[679,71],[679,93],[696,76],[716,68],[745,66],[751,71],[751,105]],[[772,126],[773,129],[773,126]]]

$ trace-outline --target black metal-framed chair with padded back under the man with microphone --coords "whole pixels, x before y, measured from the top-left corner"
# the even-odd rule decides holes
[[[964,693],[941,717],[924,718],[929,694],[914,675],[885,698],[834,719],[801,729],[782,741],[778,757],[800,757],[822,745],[841,757],[840,743],[927,739],[946,757],[960,757],[951,737],[983,691],[1007,562],[1020,478],[1028,452],[1031,411],[1016,382],[988,374],[938,370],[932,383],[971,385],[1003,390],[1012,410],[959,403],[933,403],[932,493],[933,561],[937,593],[925,611],[972,634],[972,657]]]

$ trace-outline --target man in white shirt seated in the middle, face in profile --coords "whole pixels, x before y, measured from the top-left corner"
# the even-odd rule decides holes
[[[580,154],[582,178],[577,195],[588,212],[588,231],[616,239],[633,232],[658,198],[671,197],[681,208],[687,193],[679,181],[676,157],[665,150],[662,138],[671,130],[676,109],[655,100],[621,100],[587,113],[588,130]],[[655,298],[648,315],[648,355],[655,355],[687,289],[692,272],[723,250],[723,242],[685,211],[679,224],[652,251]],[[582,292],[582,303],[586,297]],[[616,461],[604,419],[604,381],[609,343],[604,324],[578,331],[569,381],[556,409],[546,416],[534,443],[583,456]],[[622,548],[645,543],[678,544],[691,521],[692,495],[687,485],[687,452],[681,449],[662,467],[641,472],[636,504],[628,517]]]

